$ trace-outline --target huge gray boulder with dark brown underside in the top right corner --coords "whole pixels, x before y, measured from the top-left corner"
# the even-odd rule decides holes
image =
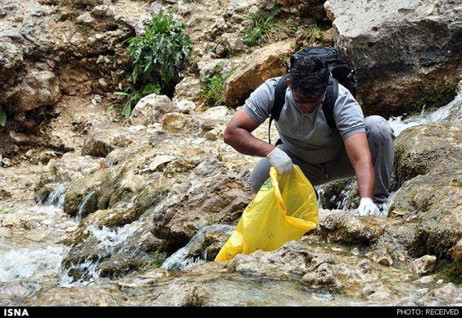
[[[462,15],[453,1],[330,0],[325,8],[336,46],[357,71],[366,114],[451,101],[462,78]]]

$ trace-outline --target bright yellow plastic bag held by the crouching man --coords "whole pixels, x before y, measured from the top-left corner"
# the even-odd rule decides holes
[[[299,240],[318,224],[318,203],[311,183],[299,166],[294,174],[269,179],[245,208],[234,233],[223,245],[217,260],[231,260],[238,253],[276,250],[290,240]]]

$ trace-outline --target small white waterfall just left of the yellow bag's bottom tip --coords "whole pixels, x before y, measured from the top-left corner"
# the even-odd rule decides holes
[[[225,232],[231,234],[234,229],[234,226],[227,226],[224,224],[212,224],[201,228],[186,246],[180,248],[167,258],[161,265],[161,268],[164,270],[187,270],[193,265],[205,263],[204,259],[200,257],[195,258],[194,255],[192,255],[203,245],[205,235],[211,232]]]

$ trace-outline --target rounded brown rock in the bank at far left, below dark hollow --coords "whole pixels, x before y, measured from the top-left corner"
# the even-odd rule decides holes
[[[19,84],[17,90],[16,112],[53,105],[61,97],[58,78],[48,70],[32,70]]]

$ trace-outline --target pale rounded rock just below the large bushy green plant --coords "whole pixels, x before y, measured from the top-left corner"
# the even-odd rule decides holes
[[[159,122],[168,112],[176,112],[176,107],[165,95],[147,95],[131,111],[130,123],[149,125]]]

